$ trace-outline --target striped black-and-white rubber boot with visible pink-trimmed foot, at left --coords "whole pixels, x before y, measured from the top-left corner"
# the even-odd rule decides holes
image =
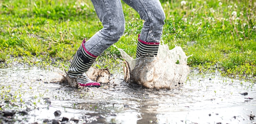
[[[92,66],[97,56],[91,54],[85,49],[85,39],[81,46],[76,51],[75,56],[72,59],[70,67],[67,71],[70,78],[76,78],[77,83],[82,87],[100,87],[101,84],[88,78],[85,74]]]

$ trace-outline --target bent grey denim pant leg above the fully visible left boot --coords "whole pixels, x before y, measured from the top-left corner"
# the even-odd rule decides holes
[[[91,1],[103,28],[94,34],[84,46],[88,52],[99,56],[123,35],[125,29],[124,12],[120,0]]]

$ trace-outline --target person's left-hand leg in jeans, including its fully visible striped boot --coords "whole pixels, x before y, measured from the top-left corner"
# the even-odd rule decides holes
[[[91,0],[103,28],[88,41],[83,40],[72,59],[67,74],[76,78],[81,86],[99,87],[100,83],[90,80],[85,72],[96,58],[117,42],[124,33],[125,21],[120,0]]]

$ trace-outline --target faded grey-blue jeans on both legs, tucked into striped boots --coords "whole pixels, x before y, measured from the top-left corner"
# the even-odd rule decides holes
[[[99,56],[116,43],[125,30],[124,12],[121,0],[91,0],[103,28],[85,44],[86,50]],[[159,0],[123,0],[139,13],[144,24],[139,39],[159,42],[162,36],[165,14]],[[136,27],[135,27],[136,28]]]

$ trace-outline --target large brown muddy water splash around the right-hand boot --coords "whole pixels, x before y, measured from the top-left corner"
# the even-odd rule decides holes
[[[116,47],[116,46],[115,46]],[[117,48],[117,47],[116,47]],[[117,48],[125,59],[124,81],[147,88],[171,89],[184,84],[189,74],[187,57],[180,46],[172,50],[159,45],[157,57],[132,59],[124,50]]]

